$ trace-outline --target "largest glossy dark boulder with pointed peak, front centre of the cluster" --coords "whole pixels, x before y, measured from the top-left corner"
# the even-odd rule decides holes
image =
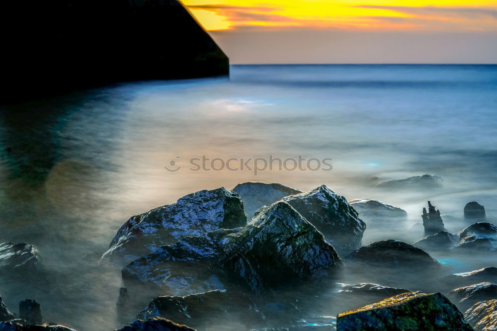
[[[181,295],[198,293],[201,286],[224,289],[228,280],[262,293],[329,276],[341,264],[323,235],[279,201],[242,229],[185,237],[129,263],[123,280],[126,286],[151,283]]]

